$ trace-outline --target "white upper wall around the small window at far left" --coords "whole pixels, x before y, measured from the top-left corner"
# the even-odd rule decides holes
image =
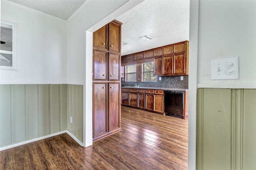
[[[66,83],[66,21],[2,0],[1,20],[15,23],[18,35],[18,71],[1,70],[1,84]]]

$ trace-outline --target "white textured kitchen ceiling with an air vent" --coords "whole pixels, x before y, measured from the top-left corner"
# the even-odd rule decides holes
[[[145,0],[116,20],[122,25],[122,55],[189,40],[189,0]],[[154,39],[140,39],[149,35]]]

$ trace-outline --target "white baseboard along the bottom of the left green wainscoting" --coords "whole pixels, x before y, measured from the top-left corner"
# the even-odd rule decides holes
[[[61,131],[61,132],[53,133],[53,134],[50,134],[50,135],[47,135],[47,136],[38,137],[38,138],[35,138],[35,139],[30,139],[28,141],[24,141],[24,142],[20,142],[20,143],[15,143],[13,145],[8,145],[6,147],[0,148],[0,151],[6,150],[6,149],[10,149],[10,148],[14,148],[14,147],[18,147],[18,146],[21,146],[21,145],[25,145],[25,144],[28,144],[28,143],[35,142],[35,141],[40,141],[42,139],[46,139],[48,137],[53,137],[53,136],[60,135],[60,134],[63,134],[63,133],[68,133],[68,135],[70,135],[70,137],[72,137],[79,145],[84,147],[83,143],[81,141],[79,141],[79,139],[77,139],[72,133],[70,133],[70,131],[66,130],[66,131]]]

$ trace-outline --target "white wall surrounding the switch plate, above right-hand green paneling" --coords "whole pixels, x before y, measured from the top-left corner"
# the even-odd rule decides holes
[[[200,0],[198,87],[256,88],[256,1]],[[239,57],[239,80],[211,80],[210,60]]]

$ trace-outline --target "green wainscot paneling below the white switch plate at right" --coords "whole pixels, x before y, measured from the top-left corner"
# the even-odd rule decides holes
[[[199,88],[198,170],[255,170],[256,89]]]

